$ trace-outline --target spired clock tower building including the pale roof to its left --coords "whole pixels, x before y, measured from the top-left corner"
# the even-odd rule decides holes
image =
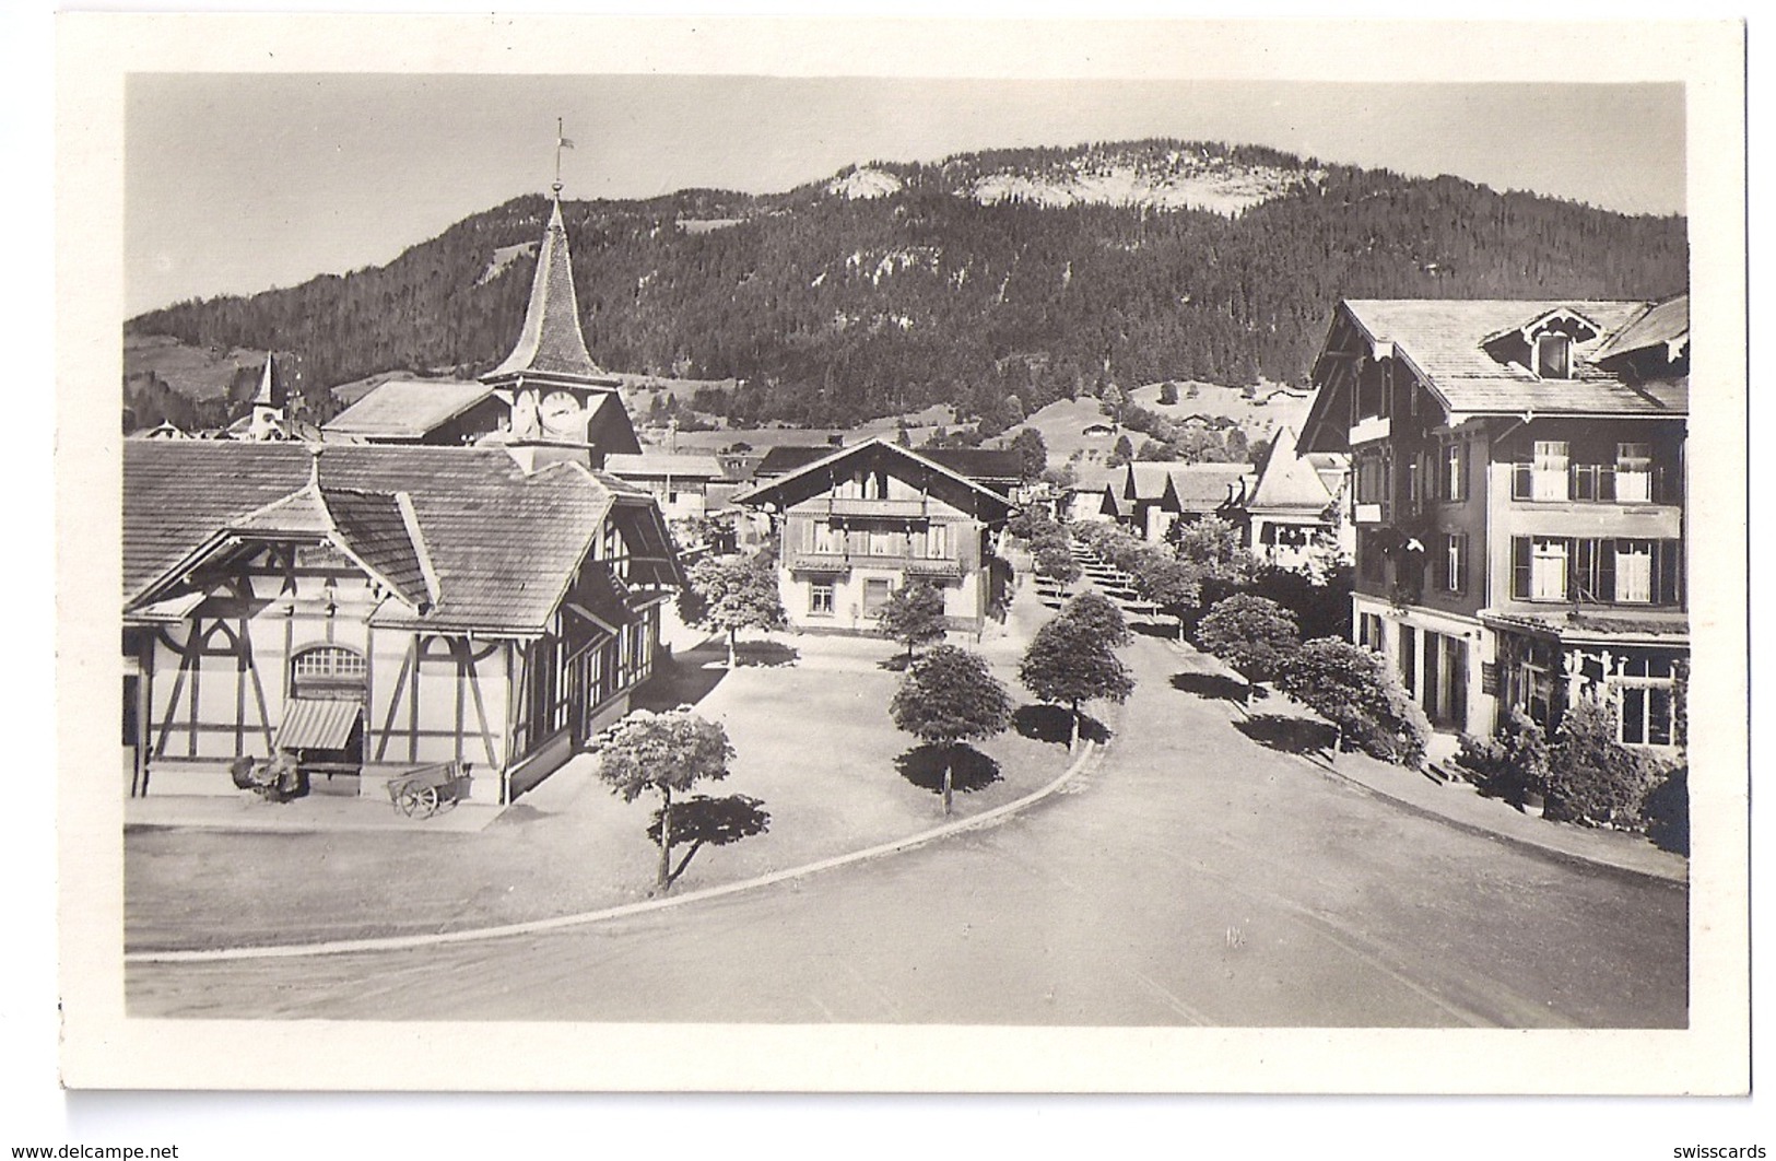
[[[329,437],[368,444],[501,444],[527,467],[591,469],[639,454],[622,380],[591,360],[574,296],[561,190],[536,252],[519,343],[480,383],[391,380],[336,415]]]

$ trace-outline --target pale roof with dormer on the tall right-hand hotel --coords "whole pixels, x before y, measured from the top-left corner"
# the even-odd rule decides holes
[[[1611,336],[1645,314],[1645,300],[1346,298],[1339,311],[1371,346],[1391,343],[1394,355],[1453,414],[1682,415],[1689,410],[1687,380],[1630,383],[1597,366]],[[1597,337],[1574,344],[1572,378],[1538,378],[1485,348],[1488,339],[1556,311],[1581,314],[1600,328]],[[1323,399],[1316,399],[1314,410],[1321,407]]]

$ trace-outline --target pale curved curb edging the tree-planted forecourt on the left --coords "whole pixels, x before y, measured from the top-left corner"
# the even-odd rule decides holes
[[[506,939],[510,936],[535,936],[540,932],[554,932],[570,927],[586,927],[590,923],[600,923],[604,920],[620,920],[636,914],[648,914],[654,911],[664,911],[668,907],[694,904],[705,898],[737,895],[741,891],[751,891],[755,888],[765,888],[776,882],[801,879],[805,875],[833,870],[835,866],[849,866],[851,863],[863,863],[865,859],[877,859],[888,854],[899,854],[902,850],[911,850],[913,847],[922,847],[940,838],[948,838],[950,834],[961,834],[963,831],[975,831],[987,827],[1053,795],[1057,790],[1073,781],[1087,767],[1087,763],[1090,763],[1090,760],[1099,753],[1103,753],[1101,744],[1085,742],[1085,746],[1080,749],[1080,756],[1074,758],[1073,765],[1062,770],[1051,783],[1027,794],[1021,799],[1005,802],[1003,806],[995,806],[989,811],[982,811],[973,818],[947,822],[929,831],[909,834],[908,838],[897,838],[886,843],[877,843],[876,847],[865,847],[863,850],[852,850],[849,854],[833,856],[829,859],[819,859],[815,863],[805,863],[801,866],[792,866],[789,870],[771,872],[769,875],[742,879],[741,882],[728,882],[716,888],[703,888],[702,891],[689,891],[686,895],[673,895],[668,898],[650,898],[639,904],[622,904],[618,907],[604,907],[600,911],[583,911],[577,914],[556,916],[551,920],[526,920],[522,923],[503,923],[497,927],[476,927],[458,932],[437,932],[428,936],[378,936],[368,939],[332,939],[325,943],[289,943],[289,944],[247,946],[247,948],[202,948],[202,950],[185,950],[185,952],[179,950],[124,952],[123,960],[124,964],[201,964],[201,962],[252,960],[252,959],[300,959],[309,955],[350,955],[353,952],[407,952],[414,948],[435,948],[449,943],[480,943],[485,939]]]

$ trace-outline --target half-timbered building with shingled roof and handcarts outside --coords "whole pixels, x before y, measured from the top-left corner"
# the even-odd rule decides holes
[[[678,584],[654,497],[506,449],[126,440],[130,790],[469,763],[508,802],[629,708]]]

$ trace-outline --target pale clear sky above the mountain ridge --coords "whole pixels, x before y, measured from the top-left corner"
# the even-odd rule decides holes
[[[1671,83],[133,73],[126,309],[387,263],[547,190],[556,117],[568,199],[769,194],[868,160],[1177,137],[1684,211]]]

